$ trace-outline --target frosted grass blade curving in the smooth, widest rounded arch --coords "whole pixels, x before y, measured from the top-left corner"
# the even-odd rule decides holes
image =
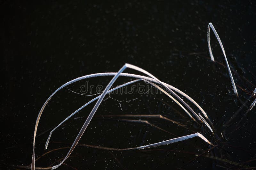
[[[120,75],[120,76],[125,76],[125,77],[133,77],[133,78],[140,78],[140,79],[146,79],[146,80],[149,80],[149,81],[152,81],[152,82],[155,82],[155,83],[158,83],[158,81],[156,81],[155,79],[153,78],[148,78],[148,77],[145,77],[145,76],[140,76],[140,75],[136,75],[136,74],[128,74],[128,73],[113,73],[113,72],[108,72],[108,73],[96,73],[96,74],[90,74],[90,75],[86,75],[86,76],[82,76],[82,77],[79,77],[79,78],[76,78],[76,79],[73,79],[73,80],[70,80],[69,82],[65,83],[64,85],[60,86],[57,90],[55,90],[51,96],[45,101],[44,105],[42,106],[42,108],[40,109],[39,111],[39,114],[37,116],[37,119],[36,119],[36,125],[35,125],[35,130],[34,130],[34,137],[33,137],[33,154],[32,154],[32,163],[31,163],[31,169],[35,169],[35,138],[36,138],[36,132],[37,132],[37,127],[38,127],[38,124],[39,124],[39,120],[40,120],[40,117],[43,113],[43,110],[45,108],[45,106],[47,105],[47,103],[50,101],[50,99],[52,98],[52,96],[58,92],[60,89],[62,89],[63,87],[69,85],[69,84],[72,84],[76,81],[79,81],[79,80],[83,80],[83,79],[86,79],[86,78],[92,78],[92,77],[99,77],[99,76],[116,76],[116,75]],[[181,95],[183,95],[184,97],[186,97],[188,100],[190,100],[193,104],[196,105],[196,107],[199,108],[199,110],[204,114],[204,116],[209,120],[207,114],[204,112],[204,110],[196,103],[196,101],[194,101],[192,98],[190,98],[187,94],[185,94],[184,92],[180,91],[179,89],[171,86],[171,85],[168,85],[166,83],[163,83],[164,85],[168,86],[169,88],[171,88],[172,90],[180,93]],[[209,120],[210,121],[210,120]],[[210,121],[211,122],[211,121]],[[212,123],[211,123],[212,124]],[[48,169],[51,169],[51,168],[48,168]]]

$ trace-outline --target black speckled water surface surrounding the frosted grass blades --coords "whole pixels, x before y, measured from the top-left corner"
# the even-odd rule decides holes
[[[1,1],[1,160],[2,169],[10,165],[28,166],[32,157],[32,140],[36,117],[45,100],[65,82],[92,73],[116,72],[124,63],[139,66],[163,82],[179,88],[192,97],[209,115],[213,124],[222,124],[241,106],[232,94],[228,72],[209,59],[207,26],[215,26],[224,45],[231,69],[255,84],[256,32],[255,3],[253,1],[126,1],[126,2],[23,2]],[[213,55],[224,63],[220,47],[211,32]],[[193,55],[196,53],[196,55]],[[127,69],[125,72],[138,73]],[[254,74],[254,75],[253,75]],[[255,86],[234,76],[237,85],[248,92]],[[92,78],[90,85],[107,85],[110,77]],[[120,78],[115,85],[129,81]],[[68,88],[78,92],[81,81]],[[238,88],[239,99],[249,94]],[[187,125],[216,143],[209,131],[191,122],[185,114],[179,116],[164,102],[172,104],[164,95],[114,95],[119,102],[108,99],[95,115],[161,114]],[[92,97],[84,97],[65,89],[56,94],[46,107],[37,130],[36,157],[44,152],[44,143],[53,128]],[[247,103],[247,108],[252,103]],[[192,105],[192,104],[191,104]],[[56,130],[51,142],[71,143],[93,104],[74,117],[81,119],[65,123]],[[194,107],[194,106],[193,106]],[[243,109],[244,114],[247,109]],[[197,110],[198,112],[198,110]],[[240,118],[241,118],[240,114]],[[135,118],[134,118],[135,119]],[[237,118],[239,120],[239,117]],[[255,159],[255,108],[249,112],[235,132],[227,130],[228,144],[215,148],[213,157],[242,163]],[[151,121],[177,136],[193,133],[159,119]],[[189,122],[188,122],[189,121]],[[233,123],[236,123],[234,121]],[[216,128],[220,136],[221,130]],[[151,126],[93,120],[81,144],[114,148],[135,147],[173,136]],[[225,142],[223,140],[222,142]],[[221,146],[223,143],[221,144]],[[69,146],[50,143],[49,149]],[[237,149],[243,147],[243,149]],[[160,149],[160,150],[159,150]],[[97,150],[77,147],[67,165],[60,169],[169,169],[185,165],[195,154],[209,149],[199,138],[154,148],[152,151]],[[174,151],[175,150],[175,151]],[[61,159],[67,149],[52,152],[36,162],[47,167]],[[255,162],[246,163],[250,167]],[[200,157],[185,169],[221,169],[231,167],[229,162]],[[244,168],[236,166],[235,168]]]

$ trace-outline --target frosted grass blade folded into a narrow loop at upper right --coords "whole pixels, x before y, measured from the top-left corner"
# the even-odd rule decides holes
[[[228,60],[227,60],[227,57],[226,57],[226,53],[225,53],[224,47],[223,47],[223,45],[222,45],[222,42],[221,42],[221,40],[220,40],[220,37],[219,37],[217,31],[215,30],[214,26],[213,26],[212,23],[210,22],[209,25],[208,25],[207,41],[208,41],[208,48],[209,48],[209,53],[210,53],[211,59],[212,59],[212,61],[214,61],[214,57],[213,57],[213,55],[212,55],[211,43],[210,43],[210,28],[212,28],[212,31],[213,31],[213,33],[215,34],[215,37],[216,37],[217,40],[219,41],[220,48],[221,48],[221,50],[222,50],[222,53],[223,53],[224,58],[225,58],[225,62],[226,62],[226,64],[227,64],[228,73],[229,73],[229,77],[230,77],[230,79],[231,79],[231,83],[232,83],[232,86],[233,86],[234,93],[238,96],[238,93],[237,93],[237,90],[236,90],[236,85],[235,85],[235,82],[234,82],[234,79],[233,79],[231,70],[230,70],[229,65],[228,65]]]

